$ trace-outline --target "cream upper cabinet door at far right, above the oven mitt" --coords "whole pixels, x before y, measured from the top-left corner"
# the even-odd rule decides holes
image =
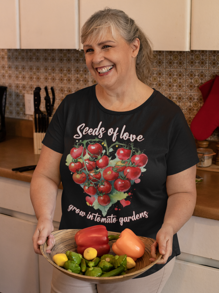
[[[218,0],[192,0],[191,50],[219,50]]]

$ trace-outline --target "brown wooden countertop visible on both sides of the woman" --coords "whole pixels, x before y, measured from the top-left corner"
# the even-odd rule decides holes
[[[12,168],[36,165],[39,155],[33,153],[33,139],[7,137],[0,143],[0,176],[30,182],[34,171],[18,172]],[[219,220],[219,173],[197,170],[202,182],[196,184],[197,201],[193,216]],[[59,186],[62,189],[62,184]]]

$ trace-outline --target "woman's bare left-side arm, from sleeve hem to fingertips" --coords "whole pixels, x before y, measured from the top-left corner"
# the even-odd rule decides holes
[[[47,241],[48,253],[51,252],[50,250],[55,244],[55,238],[51,235],[51,232],[54,229],[53,216],[58,186],[61,182],[59,173],[61,157],[62,154],[43,145],[30,184],[30,198],[38,220],[32,239],[34,251],[38,254],[42,254],[39,246],[46,241],[46,237],[49,238]]]

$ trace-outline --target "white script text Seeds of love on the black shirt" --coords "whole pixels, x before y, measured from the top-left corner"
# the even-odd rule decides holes
[[[99,123],[98,127],[93,129],[93,128],[89,128],[89,127],[85,127],[85,123],[82,123],[81,125],[79,125],[77,127],[77,132],[78,134],[75,134],[74,135],[74,138],[81,138],[82,137],[82,134],[89,134],[89,135],[93,135],[93,136],[98,136],[99,138],[102,138],[103,136],[103,133],[106,132],[105,128],[104,127],[101,127],[102,124],[102,121]],[[85,127],[85,128],[84,128]],[[121,139],[124,139],[124,140],[127,140],[128,138],[131,140],[131,142],[133,142],[135,139],[138,140],[138,142],[141,142],[144,138],[142,135],[138,135],[138,137],[136,137],[135,134],[130,134],[128,132],[124,132],[125,131],[125,128],[126,128],[126,125],[123,126],[122,130],[121,130],[121,133],[120,133],[120,138]],[[83,132],[82,132],[82,129]],[[81,131],[80,131],[81,130]],[[119,127],[116,128],[116,130],[114,131],[113,128],[109,128],[107,134],[109,136],[112,135],[112,141],[115,142],[116,139],[117,139],[117,135],[119,134]]]

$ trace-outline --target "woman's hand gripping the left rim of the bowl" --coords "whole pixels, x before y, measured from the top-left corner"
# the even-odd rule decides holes
[[[50,218],[40,217],[38,219],[36,230],[35,230],[34,236],[32,237],[35,253],[42,255],[40,250],[40,245],[46,242],[46,237],[48,237],[48,240],[47,240],[48,247],[46,252],[51,253],[51,249],[55,245],[55,238],[51,234],[53,230],[54,230],[53,222]]]

